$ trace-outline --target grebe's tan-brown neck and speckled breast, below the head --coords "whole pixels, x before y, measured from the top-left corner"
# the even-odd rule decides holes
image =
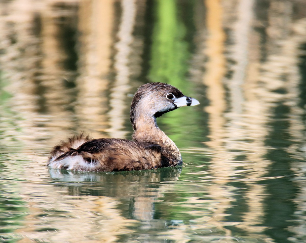
[[[168,166],[181,165],[181,153],[175,143],[157,126],[156,117],[150,114],[131,116],[134,133],[132,139],[137,142],[157,144],[162,147],[162,155]]]

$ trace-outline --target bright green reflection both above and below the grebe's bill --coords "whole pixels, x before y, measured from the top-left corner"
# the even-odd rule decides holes
[[[188,13],[193,8],[194,1],[189,1],[184,6],[178,5],[174,0],[155,1],[155,24],[149,71],[149,78],[153,82],[174,85],[187,96],[192,96],[195,90],[195,85],[186,80],[192,54],[190,46],[194,34],[191,31],[194,30],[193,22],[189,21],[191,16],[188,16]],[[187,14],[187,21],[184,22],[184,18],[179,17],[179,12]],[[189,31],[186,30],[186,24]],[[199,110],[198,107],[183,107],[167,113],[160,119],[160,128],[167,131],[167,135],[178,147],[185,147],[186,140],[188,140],[188,147],[196,146],[199,141],[205,140],[207,131],[203,114]],[[189,132],[196,131],[199,126],[201,129],[198,129],[196,135]]]

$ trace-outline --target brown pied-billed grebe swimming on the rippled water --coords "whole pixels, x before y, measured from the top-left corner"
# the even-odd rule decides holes
[[[199,101],[184,96],[169,84],[144,84],[135,93],[131,104],[134,141],[92,139],[80,134],[53,148],[49,166],[79,171],[121,171],[181,165],[180,151],[159,129],[156,118],[178,107],[198,104]]]

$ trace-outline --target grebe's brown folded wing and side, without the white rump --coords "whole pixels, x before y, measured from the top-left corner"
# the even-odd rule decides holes
[[[161,167],[161,147],[125,139],[94,139],[70,148],[54,161],[80,155],[98,171],[143,170]],[[77,168],[78,170],[87,170]]]

